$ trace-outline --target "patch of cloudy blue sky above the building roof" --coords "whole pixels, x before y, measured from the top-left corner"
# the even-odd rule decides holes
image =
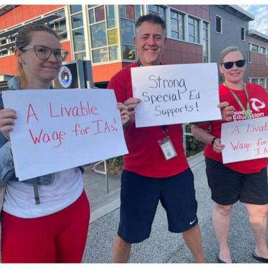
[[[253,22],[249,22],[249,29],[259,31],[268,36],[268,5],[239,5],[247,12],[255,16]]]

